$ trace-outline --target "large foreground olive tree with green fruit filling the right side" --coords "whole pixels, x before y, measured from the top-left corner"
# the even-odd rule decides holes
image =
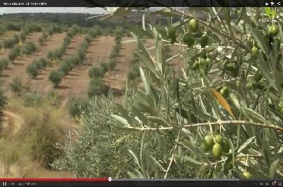
[[[125,23],[137,41],[141,85],[104,113],[108,102],[93,108],[100,115],[86,113],[79,141],[61,146],[66,157],[54,166],[86,177],[111,174],[91,171],[91,160],[123,167],[130,178],[282,178],[282,9],[163,8],[144,15],[156,14],[174,19],[154,26],[144,18],[142,29]],[[165,46],[178,51],[167,58]],[[170,66],[177,57],[180,74]],[[111,130],[93,131],[101,121],[127,135],[115,142]],[[120,149],[100,157],[108,142]]]

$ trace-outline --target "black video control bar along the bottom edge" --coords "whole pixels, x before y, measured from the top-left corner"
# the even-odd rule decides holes
[[[280,185],[281,184],[281,185]],[[18,186],[102,186],[102,187],[116,187],[116,186],[125,186],[125,187],[185,187],[185,186],[195,186],[195,187],[281,187],[283,186],[282,179],[272,179],[272,180],[241,180],[241,179],[151,179],[151,180],[131,180],[131,179],[113,179],[112,181],[27,181],[27,180],[17,180],[17,181],[2,181],[0,179],[0,186],[8,187],[18,187]]]

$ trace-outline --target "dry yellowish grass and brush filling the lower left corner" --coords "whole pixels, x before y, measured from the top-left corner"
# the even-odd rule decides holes
[[[49,167],[49,163],[62,154],[53,146],[65,137],[62,109],[50,105],[47,98],[33,107],[23,106],[18,98],[10,100],[8,110],[16,112],[24,123],[15,135],[6,132],[0,138],[0,176],[74,177],[69,172],[52,171]]]

